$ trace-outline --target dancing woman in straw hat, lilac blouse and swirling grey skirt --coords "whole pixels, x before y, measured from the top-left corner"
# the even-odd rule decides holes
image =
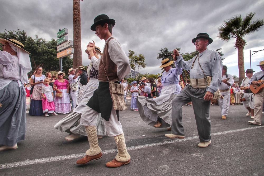
[[[173,61],[168,58],[161,61],[160,68],[163,68],[161,83],[163,89],[157,98],[138,96],[137,107],[142,120],[150,126],[166,128],[171,125],[172,100],[180,93],[179,75],[182,68],[176,65],[172,68]]]

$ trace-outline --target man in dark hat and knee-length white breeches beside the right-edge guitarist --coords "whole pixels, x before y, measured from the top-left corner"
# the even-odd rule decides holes
[[[250,84],[248,84],[248,81],[250,78],[252,78],[253,72],[255,71],[253,71],[252,69],[247,69],[247,71],[245,72],[247,78],[244,78],[242,80],[240,88],[243,88],[243,87],[249,88]],[[251,116],[251,118],[254,118],[254,94],[251,92],[250,89],[244,89],[243,98],[246,99],[246,101],[242,102],[243,106],[244,108],[248,110],[248,113],[246,114],[246,116],[248,117]]]

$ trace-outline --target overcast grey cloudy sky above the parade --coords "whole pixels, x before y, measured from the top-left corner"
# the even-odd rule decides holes
[[[0,0],[0,32],[7,30],[24,30],[28,36],[56,39],[56,33],[64,27],[69,29],[69,39],[73,39],[72,0]],[[223,42],[216,37],[218,27],[224,20],[233,15],[241,14],[244,17],[249,12],[256,12],[255,20],[264,18],[263,0],[212,0],[212,1],[157,1],[157,0],[112,0],[89,1],[81,3],[81,30],[82,30],[82,60],[84,65],[89,64],[84,52],[89,41],[94,40],[96,45],[103,48],[104,41],[100,40],[94,31],[90,30],[93,19],[100,14],[106,14],[116,21],[113,36],[119,40],[124,51],[134,50],[143,54],[147,68],[140,73],[161,72],[157,53],[161,48],[173,50],[181,47],[181,52],[192,52],[195,46],[191,40],[198,33],[206,32],[214,40],[208,46],[210,50],[223,48],[224,65],[229,68],[228,73],[237,75],[237,49],[235,39]],[[245,37],[247,45],[244,49],[245,69],[250,68],[249,50],[264,49],[264,27]],[[252,56],[252,68],[260,71],[259,61],[264,60],[264,51]]]

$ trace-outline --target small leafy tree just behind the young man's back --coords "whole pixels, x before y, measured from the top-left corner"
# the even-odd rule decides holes
[[[145,57],[143,56],[143,54],[135,55],[134,51],[128,50],[128,58],[129,58],[129,64],[131,66],[131,69],[134,70],[134,72],[135,72],[135,69],[139,71],[139,68],[145,68],[147,66],[145,63]],[[136,73],[136,80],[138,80],[138,76],[139,74]]]

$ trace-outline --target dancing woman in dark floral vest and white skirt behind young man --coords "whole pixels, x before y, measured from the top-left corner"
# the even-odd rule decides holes
[[[91,59],[87,50],[85,52],[88,54],[88,58]],[[99,56],[102,55],[101,50],[99,47],[95,47],[94,50],[95,56],[98,59]],[[74,108],[73,112],[70,113],[67,117],[60,120],[54,126],[55,129],[60,130],[61,132],[68,132],[69,135],[65,137],[67,141],[72,141],[74,139],[78,139],[80,135],[87,136],[85,127],[80,124],[81,115],[83,112],[87,110],[87,103],[89,99],[92,97],[93,92],[98,88],[99,80],[98,80],[98,66],[99,66],[99,59],[95,60],[95,63],[90,63],[87,68],[87,78],[89,82],[86,84],[83,92],[83,96],[79,99],[79,104]],[[87,80],[86,78],[86,80]],[[98,138],[102,138],[102,136],[106,135],[105,125],[102,121],[101,114],[98,115],[97,118],[97,135]]]

